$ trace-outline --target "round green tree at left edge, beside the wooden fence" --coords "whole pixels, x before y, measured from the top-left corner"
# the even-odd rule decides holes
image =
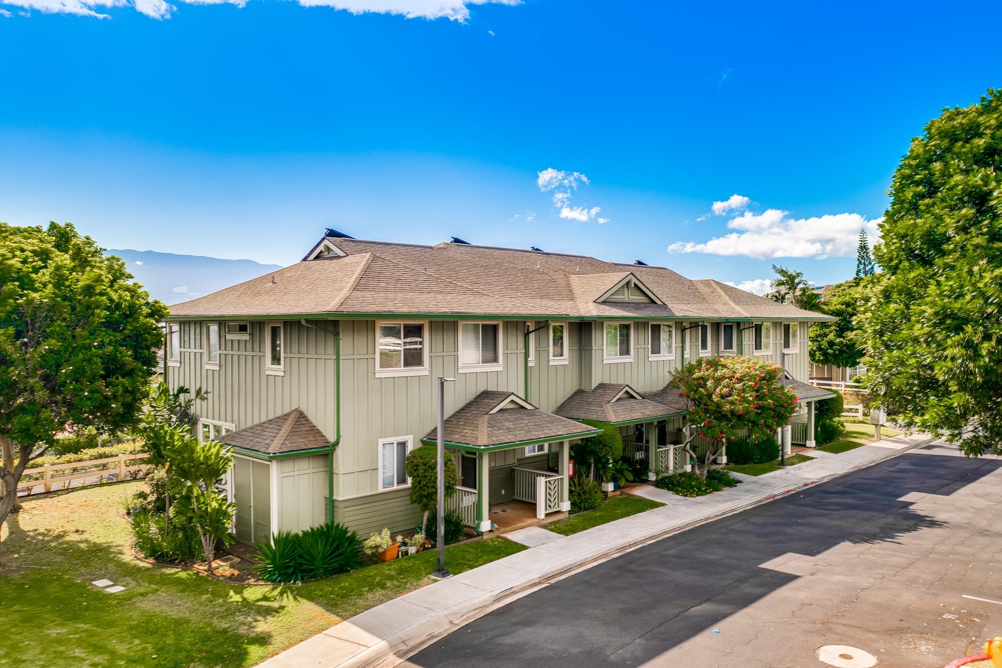
[[[70,224],[0,223],[0,524],[56,434],[135,423],[167,313]]]

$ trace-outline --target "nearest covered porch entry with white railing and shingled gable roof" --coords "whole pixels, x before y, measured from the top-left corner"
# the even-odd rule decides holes
[[[443,440],[460,473],[446,508],[481,534],[566,513],[570,441],[597,433],[514,392],[481,392],[445,420]],[[436,439],[437,429],[432,429],[422,442]]]

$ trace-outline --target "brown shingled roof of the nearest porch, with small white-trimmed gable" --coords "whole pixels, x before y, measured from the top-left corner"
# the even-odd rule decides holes
[[[450,443],[485,447],[543,439],[562,440],[573,434],[593,431],[587,425],[535,406],[498,409],[498,406],[511,403],[516,396],[514,392],[497,390],[481,392],[445,419],[444,439]],[[429,431],[425,438],[438,438],[438,427]]]

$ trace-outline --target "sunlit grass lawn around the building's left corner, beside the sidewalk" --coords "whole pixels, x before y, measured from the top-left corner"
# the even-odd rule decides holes
[[[0,665],[252,666],[429,582],[425,552],[299,586],[239,587],[148,566],[127,553],[121,499],[143,482],[24,502],[0,528]],[[524,550],[503,539],[454,546],[456,574]],[[106,594],[105,578],[127,589]]]

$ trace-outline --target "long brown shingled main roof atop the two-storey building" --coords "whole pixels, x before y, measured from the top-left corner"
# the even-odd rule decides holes
[[[716,281],[690,281],[664,267],[471,244],[327,241],[346,255],[299,262],[176,304],[171,314],[830,319]],[[663,304],[595,301],[630,273]]]

